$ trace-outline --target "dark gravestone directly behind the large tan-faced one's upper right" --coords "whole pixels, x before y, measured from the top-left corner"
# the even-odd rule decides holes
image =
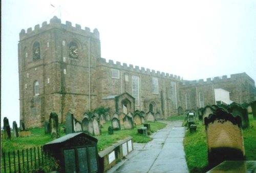
[[[248,117],[248,112],[246,108],[242,108],[238,104],[232,104],[228,108],[228,111],[233,114],[233,116],[240,116],[242,119],[242,128],[246,129],[250,126],[249,123],[249,117]]]

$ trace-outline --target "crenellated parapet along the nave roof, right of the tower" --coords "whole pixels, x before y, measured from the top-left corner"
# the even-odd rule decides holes
[[[106,59],[104,59],[104,58],[98,58],[98,65],[99,66],[107,66],[109,68],[115,68],[115,69],[120,69],[120,70],[138,72],[138,73],[147,74],[147,75],[151,75],[151,76],[158,77],[158,78],[168,78],[168,79],[172,79],[172,80],[176,80],[176,81],[181,80],[180,76],[177,76],[177,75],[160,72],[160,71],[156,71],[156,70],[151,70],[149,68],[139,67],[137,65],[134,66],[132,64],[129,64],[129,65],[127,65],[126,63],[121,64],[119,61],[117,61],[116,63],[114,63],[113,60],[109,60],[108,62],[106,62]]]

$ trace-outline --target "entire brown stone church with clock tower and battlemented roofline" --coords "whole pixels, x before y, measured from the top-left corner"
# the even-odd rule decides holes
[[[82,29],[54,16],[19,34],[20,120],[42,127],[51,112],[59,122],[71,111],[78,120],[87,111],[110,108],[110,114],[135,110],[167,118],[178,108],[252,102],[254,81],[239,73],[185,81],[179,76],[101,58],[97,29]]]

